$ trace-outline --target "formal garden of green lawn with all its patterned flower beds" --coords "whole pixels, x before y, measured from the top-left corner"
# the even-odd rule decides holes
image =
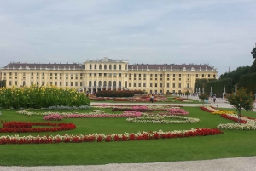
[[[88,101],[86,96],[79,97],[83,98]],[[1,109],[1,165],[174,162],[256,155],[253,111],[241,111],[237,127],[234,109],[210,105],[86,106]]]

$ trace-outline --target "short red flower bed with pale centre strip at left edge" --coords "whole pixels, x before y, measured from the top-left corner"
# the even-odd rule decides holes
[[[50,126],[52,128],[32,128],[32,126]],[[74,128],[76,128],[76,126],[73,123],[27,123],[12,121],[3,123],[3,128],[0,128],[0,133],[56,132]]]

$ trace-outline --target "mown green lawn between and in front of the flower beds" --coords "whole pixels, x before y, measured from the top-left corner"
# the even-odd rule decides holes
[[[216,128],[219,123],[234,123],[218,115],[201,111],[198,107],[184,107],[188,117],[200,118],[200,123],[154,124],[128,123],[125,118],[70,118],[59,122],[74,123],[77,128],[66,132],[30,133],[43,134],[124,134],[138,131],[183,130],[190,128]],[[91,111],[81,110],[79,112]],[[228,109],[230,110],[230,109]],[[16,114],[15,111],[1,110],[0,120],[37,121],[43,116]],[[110,110],[107,110],[110,112]],[[121,111],[115,111],[119,113]],[[242,111],[242,115],[256,117],[255,112]],[[0,124],[2,127],[2,124]],[[140,140],[100,143],[59,143],[32,145],[0,145],[0,165],[89,165],[131,162],[173,162],[204,160],[223,157],[256,156],[256,131],[223,130],[224,134],[177,138],[170,140]],[[2,133],[1,135],[7,135]],[[22,133],[21,135],[29,135]]]

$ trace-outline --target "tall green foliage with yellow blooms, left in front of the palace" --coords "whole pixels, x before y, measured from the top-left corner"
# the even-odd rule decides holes
[[[0,106],[6,109],[41,109],[53,105],[90,105],[90,99],[73,88],[37,85],[24,88],[0,88]]]

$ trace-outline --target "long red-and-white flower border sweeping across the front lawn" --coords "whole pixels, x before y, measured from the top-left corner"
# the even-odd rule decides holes
[[[50,135],[50,136],[19,136],[8,135],[0,136],[0,145],[4,144],[48,144],[48,143],[82,143],[82,142],[113,142],[128,140],[159,140],[184,138],[193,136],[207,136],[215,134],[224,134],[217,128],[192,128],[190,130],[167,131],[162,130],[154,132],[138,132],[125,134],[88,134],[88,135]]]

